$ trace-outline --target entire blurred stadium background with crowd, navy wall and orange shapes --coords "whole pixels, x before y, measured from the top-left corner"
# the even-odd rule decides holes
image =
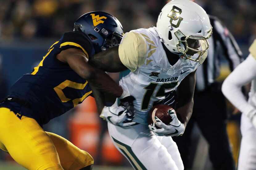
[[[64,32],[72,30],[76,18],[93,10],[113,14],[122,23],[124,32],[137,28],[155,26],[157,16],[165,0],[1,0],[0,1],[0,98],[8,94],[10,86],[24,73],[30,72],[42,59],[46,50]],[[254,0],[197,0],[208,14],[217,16],[232,32],[248,55],[248,47],[256,38],[256,1]],[[225,60],[219,80],[229,73]],[[112,74],[117,79],[117,74]],[[232,115],[230,109],[230,115]],[[239,114],[229,120],[229,136],[234,158],[239,146]],[[92,98],[76,109],[52,120],[45,126],[50,132],[71,140],[78,147],[91,153],[95,169],[117,166],[118,170],[130,170],[130,164],[118,153],[109,139],[106,122],[95,113]],[[211,169],[207,159],[207,144],[194,130],[194,140],[200,149],[195,153],[194,167],[197,170]],[[197,155],[205,155],[205,160]],[[126,167],[126,168],[125,168]],[[0,152],[0,170],[19,170],[10,156]],[[109,169],[115,169],[113,167]]]

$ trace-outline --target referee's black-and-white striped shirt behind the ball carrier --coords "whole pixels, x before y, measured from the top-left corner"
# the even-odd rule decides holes
[[[209,50],[206,60],[196,70],[196,90],[204,91],[220,75],[221,57],[225,56],[232,71],[242,62],[242,52],[229,30],[213,16],[209,16],[213,35],[208,39]]]

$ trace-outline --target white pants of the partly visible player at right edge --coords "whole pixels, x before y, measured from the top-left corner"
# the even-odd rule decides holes
[[[256,170],[256,128],[242,114],[242,141],[238,158],[238,170]]]

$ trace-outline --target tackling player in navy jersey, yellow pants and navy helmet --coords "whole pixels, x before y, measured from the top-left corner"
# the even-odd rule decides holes
[[[53,43],[39,65],[24,74],[0,104],[0,148],[28,170],[92,169],[89,153],[45,132],[42,126],[92,95],[89,83],[126,100],[118,84],[88,64],[95,53],[119,45],[122,34],[121,23],[105,12],[94,11],[78,18],[74,30]],[[123,112],[121,118],[111,118],[118,125],[125,115]]]

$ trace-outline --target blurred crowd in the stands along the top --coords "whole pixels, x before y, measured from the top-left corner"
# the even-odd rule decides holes
[[[155,26],[166,0],[1,0],[0,37],[4,41],[60,38],[82,14],[103,10],[120,20],[124,31]],[[198,0],[233,33],[239,44],[256,36],[256,1]]]

